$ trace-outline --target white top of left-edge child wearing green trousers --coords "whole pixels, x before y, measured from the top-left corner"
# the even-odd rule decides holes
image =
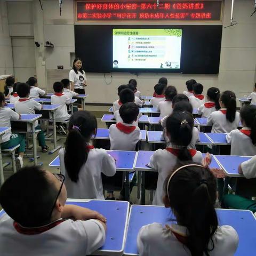
[[[11,127],[11,121],[18,121],[19,117],[19,114],[10,108],[0,108],[0,127]],[[11,135],[11,130],[6,131],[2,137],[2,143],[9,141]]]

